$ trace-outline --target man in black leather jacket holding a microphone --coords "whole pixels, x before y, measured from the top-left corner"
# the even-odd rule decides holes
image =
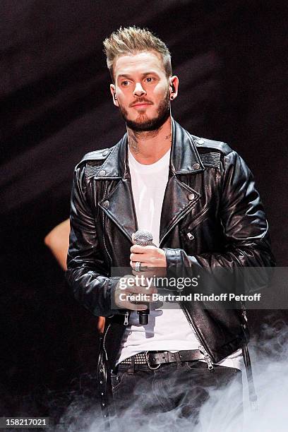
[[[148,30],[120,28],[104,47],[112,100],[127,133],[76,166],[67,261],[76,299],[107,317],[99,367],[104,416],[112,412],[110,380],[126,429],[164,413],[197,424],[210,389],[232,380],[236,414],[241,348],[249,366],[243,314],[199,309],[192,301],[159,308],[152,302],[157,289],[135,275],[274,265],[253,176],[228,145],[192,136],[172,119],[179,79],[161,40]],[[133,245],[137,229],[148,230],[155,246]],[[123,299],[111,271],[129,265],[134,279]],[[146,294],[148,325],[139,324],[136,311],[147,306],[131,301],[133,294]]]

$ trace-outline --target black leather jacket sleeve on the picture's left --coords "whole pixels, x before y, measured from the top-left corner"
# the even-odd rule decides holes
[[[95,316],[111,316],[111,299],[119,277],[109,277],[97,239],[95,215],[90,200],[90,184],[85,181],[85,164],[74,170],[71,192],[71,232],[66,280],[75,298]]]

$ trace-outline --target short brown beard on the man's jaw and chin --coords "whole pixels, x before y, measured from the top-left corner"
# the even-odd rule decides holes
[[[120,112],[126,121],[126,126],[134,132],[149,132],[157,131],[167,121],[170,116],[170,104],[169,104],[169,89],[166,95],[163,97],[157,109],[157,115],[153,119],[149,119],[145,112],[139,112],[138,119],[136,121],[129,120],[128,112],[125,108],[119,106]]]

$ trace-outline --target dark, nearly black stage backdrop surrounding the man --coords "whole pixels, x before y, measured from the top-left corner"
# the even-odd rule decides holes
[[[97,362],[97,318],[72,299],[43,239],[68,217],[75,164],[125,131],[102,40],[135,24],[167,42],[180,79],[174,118],[244,157],[284,266],[288,7],[256,0],[1,0],[0,7],[0,414],[31,415],[49,411],[43,395],[87,390]],[[250,311],[252,335],[286,316]]]

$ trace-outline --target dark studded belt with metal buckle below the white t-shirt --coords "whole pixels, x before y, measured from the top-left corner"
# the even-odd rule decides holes
[[[169,351],[146,351],[140,352],[135,356],[128,357],[121,361],[120,364],[147,364],[150,368],[152,366],[160,367],[161,364],[164,363],[174,363],[176,361],[193,361],[193,360],[202,360],[204,356],[198,349],[188,349],[184,351],[178,352],[169,352]]]

